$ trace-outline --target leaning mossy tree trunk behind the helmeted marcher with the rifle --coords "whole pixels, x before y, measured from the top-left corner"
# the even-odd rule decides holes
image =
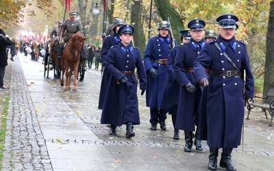
[[[184,29],[184,23],[181,20],[181,17],[171,7],[170,1],[163,1],[163,0],[154,0],[154,1],[155,1],[156,7],[158,8],[160,16],[162,17],[162,20],[167,21],[169,17],[169,20],[171,21],[171,27],[172,27],[174,38],[179,43],[181,39],[181,34],[179,33],[179,31]]]

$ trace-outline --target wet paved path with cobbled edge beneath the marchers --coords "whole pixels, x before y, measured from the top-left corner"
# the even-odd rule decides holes
[[[171,116],[167,130],[149,129],[149,108],[138,91],[141,124],[136,137],[108,135],[97,109],[101,72],[86,71],[77,92],[64,91],[60,79],[44,77],[42,62],[19,54],[12,64],[10,105],[2,170],[208,170],[208,146],[184,152],[184,134],[173,140]],[[93,65],[92,68],[95,68]],[[244,149],[234,149],[237,170],[274,170],[273,131],[245,121]],[[221,150],[220,150],[221,153]],[[219,157],[220,160],[220,157]],[[218,170],[223,170],[218,167]]]

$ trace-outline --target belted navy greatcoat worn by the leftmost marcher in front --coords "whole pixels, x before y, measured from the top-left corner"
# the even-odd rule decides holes
[[[105,59],[105,69],[110,73],[110,81],[105,94],[105,102],[101,115],[101,124],[121,126],[127,122],[140,124],[138,110],[136,75],[125,75],[121,71],[132,71],[137,68],[140,89],[147,89],[147,75],[140,51],[122,42],[108,52]],[[122,77],[127,77],[127,83],[118,83]]]

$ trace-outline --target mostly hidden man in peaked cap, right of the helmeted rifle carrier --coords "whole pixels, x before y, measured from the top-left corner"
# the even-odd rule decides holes
[[[190,30],[181,30],[181,44],[189,42],[191,36],[189,33]],[[169,82],[166,85],[166,90],[164,90],[164,96],[162,98],[161,108],[169,111],[171,114],[171,119],[174,127],[173,139],[179,140],[179,129],[175,129],[176,116],[177,116],[177,107],[179,101],[179,83],[177,82],[177,77],[174,73],[174,62],[177,54],[178,47],[171,49],[169,57],[167,58],[166,68],[169,72]]]

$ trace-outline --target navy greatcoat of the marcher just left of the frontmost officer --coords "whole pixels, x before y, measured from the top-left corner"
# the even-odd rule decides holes
[[[184,131],[195,131],[195,124],[199,125],[199,101],[201,98],[201,88],[197,83],[194,72],[188,72],[186,68],[193,68],[193,64],[201,49],[206,43],[202,39],[195,42],[192,38],[190,42],[179,45],[175,57],[175,75],[180,84],[179,102],[176,118],[176,129]],[[195,92],[188,92],[184,86],[192,83]]]

